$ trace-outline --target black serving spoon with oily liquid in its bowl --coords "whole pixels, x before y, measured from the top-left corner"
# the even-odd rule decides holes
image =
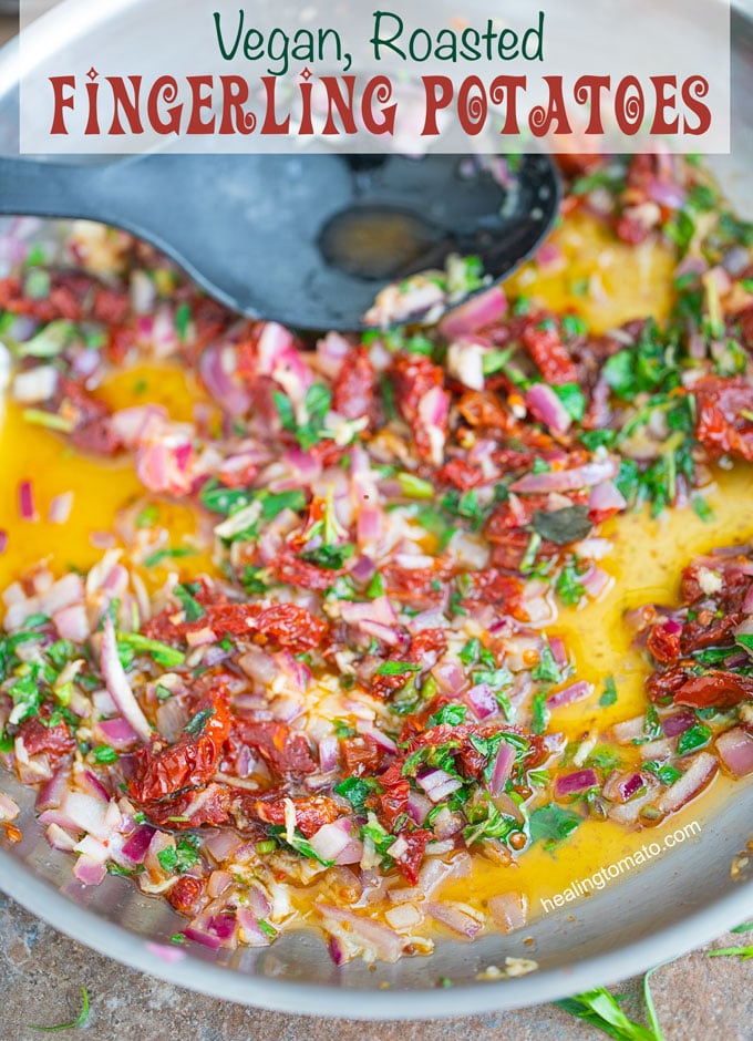
[[[451,252],[479,256],[494,280],[533,252],[559,203],[551,159],[523,156],[497,178],[487,165],[456,155],[0,158],[0,213],[124,228],[236,311],[351,330],[380,289]]]

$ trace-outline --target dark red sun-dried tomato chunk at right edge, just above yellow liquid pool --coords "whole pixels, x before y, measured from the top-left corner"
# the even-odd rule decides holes
[[[706,375],[693,384],[695,436],[712,456],[753,460],[753,386],[742,377]]]

